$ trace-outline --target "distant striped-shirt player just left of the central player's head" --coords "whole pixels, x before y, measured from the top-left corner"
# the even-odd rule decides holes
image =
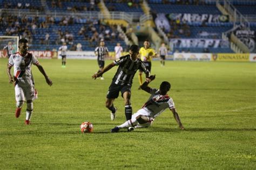
[[[97,55],[99,70],[98,73],[102,72],[105,65],[105,57],[109,55],[109,49],[105,47],[105,42],[101,40],[99,46],[95,48],[95,55]],[[100,80],[104,80],[104,77],[100,75]]]

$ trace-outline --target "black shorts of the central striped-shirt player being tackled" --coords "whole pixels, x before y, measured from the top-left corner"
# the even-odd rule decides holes
[[[107,91],[106,98],[117,98],[119,96],[119,91],[121,91],[121,94],[122,94],[122,97],[123,97],[123,94],[126,91],[131,93],[131,86],[128,86],[126,84],[123,85],[123,86],[120,86],[120,85],[111,83],[110,87],[109,87],[109,91]]]

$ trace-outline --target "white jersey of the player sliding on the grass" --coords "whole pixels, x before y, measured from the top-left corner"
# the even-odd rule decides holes
[[[167,108],[175,109],[172,98],[168,95],[160,95],[158,89],[151,88],[151,96],[143,105],[142,110],[146,111],[149,116],[155,118]]]

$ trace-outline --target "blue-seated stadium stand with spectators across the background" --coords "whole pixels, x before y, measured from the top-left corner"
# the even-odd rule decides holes
[[[141,13],[143,15],[142,1],[113,1],[106,0],[105,6],[107,10],[122,11],[126,13]],[[255,1],[230,1],[235,8],[241,13],[254,16],[256,5]],[[43,4],[45,3],[45,4]],[[117,31],[117,25],[107,25],[100,23],[98,15],[92,17],[73,16],[71,13],[86,13],[86,12],[102,12],[99,8],[99,1],[33,1],[33,0],[2,0],[0,5],[3,9],[14,9],[19,13],[16,15],[6,15],[1,13],[0,19],[0,35],[6,36],[22,36],[28,38],[31,42],[33,50],[52,50],[57,49],[63,41],[66,41],[69,49],[75,49],[76,44],[82,44],[85,51],[93,51],[97,42],[104,38],[106,46],[110,51],[113,51],[116,42],[125,45],[124,35]],[[155,19],[159,13],[164,13],[165,16],[176,15],[212,15],[221,16],[222,13],[218,10],[215,1],[178,1],[178,0],[148,0],[147,4],[151,8],[151,14]],[[35,17],[35,15],[24,16],[20,15],[21,11],[39,11],[46,14]],[[50,15],[47,13],[50,12]],[[54,13],[54,16],[52,16]],[[95,14],[96,14],[95,13]],[[141,16],[142,16],[141,15]],[[138,15],[137,15],[138,16]],[[168,18],[168,17],[167,17]],[[167,38],[171,39],[221,39],[221,34],[231,30],[233,23],[227,21],[221,22],[205,22],[201,20],[191,20],[184,22],[183,20],[169,19],[171,29],[165,32]],[[137,19],[139,20],[139,19]],[[156,23],[157,25],[157,23]],[[255,23],[250,23],[251,28],[255,30]],[[126,29],[125,29],[126,30]],[[128,30],[128,29],[127,29]],[[157,30],[157,29],[155,29]],[[129,36],[128,36],[129,37]],[[173,51],[190,51],[190,52],[233,52],[231,48],[174,48]]]

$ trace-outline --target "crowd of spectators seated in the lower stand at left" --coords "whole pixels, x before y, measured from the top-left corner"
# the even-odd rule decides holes
[[[86,23],[79,24],[82,25],[77,32],[72,32],[69,30],[68,26],[72,26],[74,24],[72,17],[63,17],[59,22],[56,22],[56,18],[52,16],[45,17],[45,19],[39,19],[38,17],[26,17],[25,15],[22,17],[10,16],[10,15],[2,15],[0,17],[0,27],[5,28],[4,30],[0,30],[4,32],[5,36],[22,36],[22,38],[26,38],[30,43],[33,42],[33,35],[42,35],[38,40],[39,44],[42,45],[62,45],[63,42],[66,42],[67,45],[70,45],[71,48],[82,48],[80,45],[74,44],[75,35],[83,37],[83,40],[89,41],[90,46],[94,47],[95,42],[99,42],[100,40],[113,42],[116,39],[124,40],[124,36],[122,33],[117,31],[117,25],[106,26],[106,23],[101,23],[96,18],[86,19]],[[66,30],[57,29],[52,30],[56,33],[57,38],[52,38],[50,36],[50,32],[47,31],[48,28],[51,28],[54,25],[56,26],[66,26]],[[39,28],[39,29],[38,29]],[[46,31],[42,31],[42,29],[46,29]],[[75,34],[75,35],[74,35]]]

